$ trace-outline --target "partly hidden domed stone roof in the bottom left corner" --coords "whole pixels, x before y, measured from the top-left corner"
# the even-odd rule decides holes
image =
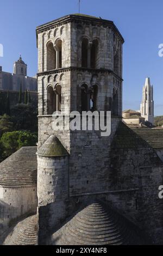
[[[37,216],[33,215],[19,222],[5,239],[3,245],[36,245]]]

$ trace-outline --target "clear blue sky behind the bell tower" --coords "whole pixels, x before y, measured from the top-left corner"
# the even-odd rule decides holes
[[[123,109],[140,109],[142,86],[150,77],[154,86],[155,115],[163,115],[162,0],[80,0],[81,13],[112,20],[125,39],[123,45]],[[78,13],[78,0],[5,0],[0,4],[0,65],[12,72],[20,53],[28,75],[37,72],[36,26]]]

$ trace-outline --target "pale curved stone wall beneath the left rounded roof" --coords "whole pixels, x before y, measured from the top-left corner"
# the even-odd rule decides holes
[[[18,218],[34,214],[37,209],[37,187],[0,187],[0,241],[1,235]]]

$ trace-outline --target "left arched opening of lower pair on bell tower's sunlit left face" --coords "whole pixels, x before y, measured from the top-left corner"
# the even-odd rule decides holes
[[[53,87],[47,88],[47,114],[51,115],[56,111],[57,107],[57,95],[55,94]]]

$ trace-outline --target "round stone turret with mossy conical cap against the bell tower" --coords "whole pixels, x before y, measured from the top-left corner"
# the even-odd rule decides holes
[[[37,151],[37,196],[39,244],[66,214],[68,198],[68,153],[56,136],[50,136]]]

